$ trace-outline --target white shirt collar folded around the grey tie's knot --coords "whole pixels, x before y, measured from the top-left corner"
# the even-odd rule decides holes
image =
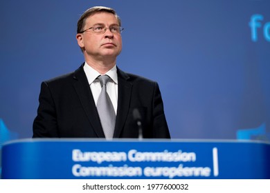
[[[87,75],[89,85],[91,85],[91,83],[93,83],[93,81],[95,81],[98,76],[104,75],[93,69],[90,65],[87,64],[87,62],[84,63],[84,72]],[[105,74],[107,74],[114,81],[114,83],[118,84],[116,65],[114,65],[114,67]]]

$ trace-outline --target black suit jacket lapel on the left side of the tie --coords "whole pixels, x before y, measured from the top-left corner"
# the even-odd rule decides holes
[[[84,112],[87,114],[87,118],[96,132],[96,135],[100,138],[104,138],[105,134],[102,130],[102,126],[100,124],[100,119],[98,116],[98,110],[96,110],[95,101],[93,100],[93,95],[91,89],[89,87],[89,83],[87,81],[87,77],[83,70],[83,65],[74,72],[73,79],[75,79],[75,83],[73,84],[76,93],[80,99],[80,103],[82,104],[82,108]],[[91,128],[89,128],[90,130]]]

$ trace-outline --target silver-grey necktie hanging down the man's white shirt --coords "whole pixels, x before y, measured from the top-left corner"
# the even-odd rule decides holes
[[[114,106],[109,99],[109,94],[106,90],[107,82],[111,79],[107,75],[98,77],[102,90],[100,96],[98,96],[97,109],[100,116],[100,122],[106,139],[112,139],[114,136],[114,126],[116,123],[116,113],[114,112]]]

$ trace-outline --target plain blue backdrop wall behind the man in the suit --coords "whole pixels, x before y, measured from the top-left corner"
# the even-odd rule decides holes
[[[270,1],[9,0],[0,2],[0,142],[6,130],[31,137],[41,82],[84,61],[76,24],[92,6],[120,15],[117,65],[159,82],[172,138],[269,141]],[[264,17],[258,41],[254,14]]]

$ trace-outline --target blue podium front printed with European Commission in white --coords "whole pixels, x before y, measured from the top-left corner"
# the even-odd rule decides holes
[[[256,141],[26,139],[2,148],[2,179],[270,179]]]

